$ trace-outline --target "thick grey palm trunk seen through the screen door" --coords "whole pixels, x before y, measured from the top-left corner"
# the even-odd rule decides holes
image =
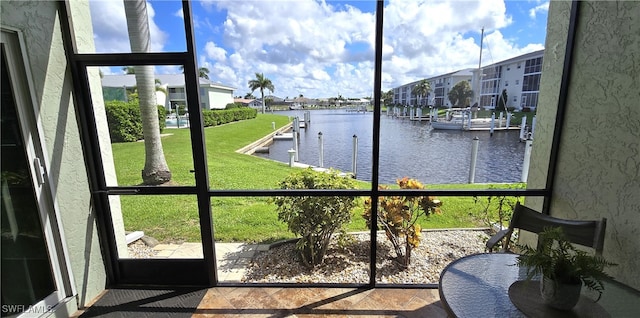
[[[145,53],[150,51],[149,19],[145,0],[126,0],[124,11],[127,17],[129,43],[131,52]],[[142,182],[146,185],[158,185],[171,180],[171,171],[164,158],[160,140],[160,123],[156,105],[156,85],[153,66],[135,66],[140,116],[144,136],[145,160],[142,170]]]

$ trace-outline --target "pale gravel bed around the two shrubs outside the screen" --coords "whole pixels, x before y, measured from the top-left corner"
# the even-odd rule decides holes
[[[369,234],[355,234],[342,247],[333,240],[323,263],[308,269],[298,260],[294,243],[260,252],[249,265],[244,282],[262,283],[368,283]],[[436,230],[422,232],[413,249],[411,264],[403,269],[384,233],[378,235],[376,281],[389,284],[437,284],[447,264],[462,256],[484,252],[489,238],[484,230]]]

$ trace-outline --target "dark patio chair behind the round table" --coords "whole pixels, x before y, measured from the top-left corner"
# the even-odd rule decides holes
[[[486,245],[488,251],[492,251],[493,247],[504,239],[501,252],[509,251],[509,242],[514,229],[525,230],[533,233],[540,233],[546,227],[562,227],[567,239],[572,243],[591,247],[595,250],[596,255],[602,255],[604,247],[604,230],[607,226],[607,219],[602,218],[600,221],[578,221],[565,220],[555,218],[546,214],[539,213],[531,208],[516,204],[513,210],[513,217],[507,229],[501,230],[492,236]],[[506,239],[505,239],[506,238]],[[538,240],[538,247],[541,244]]]

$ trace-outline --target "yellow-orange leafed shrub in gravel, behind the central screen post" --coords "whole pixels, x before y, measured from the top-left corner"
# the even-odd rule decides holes
[[[424,189],[415,179],[404,177],[397,180],[401,189]],[[388,189],[380,186],[380,189]],[[403,267],[411,263],[411,250],[420,245],[422,228],[417,224],[420,216],[440,213],[442,203],[429,196],[393,196],[380,197],[378,200],[378,220],[376,226],[382,228],[396,252],[396,260]],[[363,217],[367,227],[371,228],[371,198],[364,202]],[[404,241],[404,242],[403,242]],[[403,247],[404,245],[404,247]]]

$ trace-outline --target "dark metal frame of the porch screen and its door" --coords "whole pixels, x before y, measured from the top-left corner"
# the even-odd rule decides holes
[[[211,189],[207,171],[206,148],[202,116],[200,109],[199,81],[197,74],[197,56],[195,51],[194,29],[189,1],[182,1],[184,12],[185,36],[187,38],[186,52],[162,52],[162,53],[84,53],[79,54],[73,37],[73,23],[69,12],[69,1],[60,1],[61,26],[63,41],[67,53],[67,59],[71,68],[73,80],[74,104],[79,117],[80,133],[85,151],[85,164],[90,179],[90,190],[93,194],[96,223],[98,227],[103,258],[107,272],[107,287],[142,285],[196,285],[196,286],[228,286],[235,285],[221,283],[217,278],[217,264],[215,261],[215,244],[213,239],[213,219],[211,214],[212,197],[271,197],[271,196],[366,196],[377,201],[381,196],[537,196],[544,198],[543,213],[548,213],[548,205],[551,199],[553,177],[557,161],[557,148],[560,140],[562,119],[564,116],[564,102],[568,90],[570,73],[570,59],[573,52],[573,35],[577,23],[577,2],[573,1],[571,21],[569,26],[569,39],[565,56],[565,69],[563,82],[561,83],[560,100],[558,103],[558,116],[556,129],[551,145],[551,159],[547,175],[546,187],[542,189],[485,189],[485,190],[402,190],[402,189],[378,189],[378,170],[380,153],[380,116],[381,116],[381,87],[382,87],[382,39],[383,39],[383,15],[384,2],[376,1],[376,33],[375,33],[375,70],[374,70],[374,120],[373,120],[373,149],[372,149],[372,185],[366,190],[220,190]],[[183,65],[185,75],[185,91],[189,105],[191,120],[192,151],[194,158],[195,186],[185,187],[109,187],[106,185],[102,158],[98,145],[93,105],[88,84],[87,67],[90,66],[120,66],[120,65]],[[518,65],[520,68],[520,65]],[[497,70],[496,70],[497,71]],[[437,85],[436,85],[437,86]],[[114,238],[113,224],[111,223],[111,211],[109,208],[109,195],[163,195],[163,194],[191,194],[196,195],[199,207],[200,231],[202,237],[203,259],[162,259],[162,260],[135,260],[118,259]],[[377,216],[377,206],[372,208],[372,217]],[[380,287],[384,284],[376,282],[376,229],[370,231],[370,279],[368,284],[331,284],[330,287]],[[168,273],[171,275],[157,275]],[[173,275],[175,274],[175,275]],[[256,284],[252,284],[255,286]],[[257,284],[274,285],[274,284]],[[275,284],[283,286],[286,284]],[[325,286],[323,284],[298,284],[296,286]],[[421,286],[423,287],[423,286]],[[427,287],[437,288],[437,284]]]

